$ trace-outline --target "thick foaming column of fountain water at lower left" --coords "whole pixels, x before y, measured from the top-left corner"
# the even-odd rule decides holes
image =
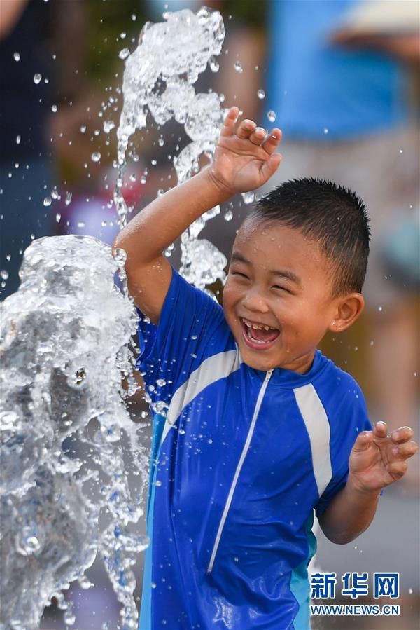
[[[147,541],[129,526],[143,514],[147,465],[123,404],[135,387],[123,389],[121,373],[132,372],[137,315],[114,284],[117,269],[94,238],[41,238],[25,252],[19,291],[2,303],[1,630],[38,628],[53,595],[69,623],[60,591],[83,580],[97,554],[122,626],[136,626],[130,566]],[[69,437],[89,449],[85,461],[66,453]]]

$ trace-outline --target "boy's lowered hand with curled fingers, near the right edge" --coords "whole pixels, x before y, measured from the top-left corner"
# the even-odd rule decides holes
[[[363,492],[379,491],[401,479],[407,472],[407,459],[417,451],[409,427],[388,435],[386,423],[378,422],[373,431],[360,433],[349,458],[349,480]]]

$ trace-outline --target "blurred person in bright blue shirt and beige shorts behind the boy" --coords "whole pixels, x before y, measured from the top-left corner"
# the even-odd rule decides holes
[[[369,10],[381,37],[358,39],[358,16]],[[412,4],[411,19],[395,18],[400,5]],[[398,24],[396,39],[381,23],[381,11],[393,8],[388,28]],[[407,67],[419,64],[419,13],[416,3],[359,0],[279,0],[269,2],[269,108],[283,130],[281,168],[269,186],[293,177],[323,177],[349,187],[365,201],[372,221],[372,244],[365,284],[364,352],[367,369],[357,365],[359,381],[371,392],[372,420],[389,430],[401,423],[418,429],[418,335],[413,296],[419,283],[415,241],[419,210],[419,125],[409,104]],[[388,9],[387,9],[388,10]],[[362,15],[363,18],[363,15]],[[353,30],[349,25],[353,24]],[[391,35],[391,36],[390,36]],[[344,46],[346,43],[346,46]],[[388,43],[388,46],[386,46]],[[350,46],[351,44],[351,46]],[[417,49],[416,49],[417,46]],[[407,52],[408,51],[408,52]],[[338,220],[338,219],[337,219]],[[391,250],[398,226],[412,226],[411,259],[397,271]],[[407,228],[405,229],[407,233]],[[344,337],[345,340],[349,336]],[[336,339],[332,347],[349,369]],[[353,343],[354,348],[354,343]],[[330,350],[330,349],[329,349]],[[338,351],[338,352],[337,352]],[[344,360],[345,358],[345,360]],[[351,360],[350,360],[351,362]],[[364,362],[363,362],[364,363]]]

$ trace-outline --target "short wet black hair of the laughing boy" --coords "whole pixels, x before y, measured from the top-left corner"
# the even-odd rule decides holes
[[[356,193],[326,179],[290,179],[258,200],[248,216],[280,221],[317,240],[332,263],[333,297],[362,291],[370,221]]]

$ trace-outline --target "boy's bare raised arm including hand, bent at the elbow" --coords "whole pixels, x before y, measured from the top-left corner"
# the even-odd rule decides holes
[[[141,210],[117,236],[113,250],[127,254],[128,288],[142,313],[157,324],[172,278],[172,269],[162,252],[198,217],[239,192],[251,191],[267,182],[279,166],[274,153],[281,132],[266,137],[253,121],[242,121],[235,131],[239,109],[232,107],[218,139],[214,161]]]

